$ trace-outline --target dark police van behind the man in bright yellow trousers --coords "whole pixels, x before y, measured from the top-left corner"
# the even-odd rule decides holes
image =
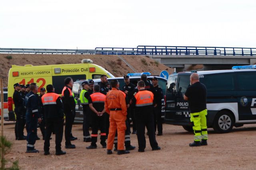
[[[193,131],[188,102],[183,99],[192,73],[171,74],[166,86],[164,120],[168,124],[182,125],[186,131]],[[240,68],[197,73],[207,88],[208,127],[226,133],[233,126],[256,123],[256,70]]]

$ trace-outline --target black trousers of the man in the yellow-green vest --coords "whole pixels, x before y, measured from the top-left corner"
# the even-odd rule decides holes
[[[83,121],[83,135],[84,139],[90,139],[90,123],[91,123],[91,109],[89,105],[83,105],[83,115],[84,115],[84,121]]]

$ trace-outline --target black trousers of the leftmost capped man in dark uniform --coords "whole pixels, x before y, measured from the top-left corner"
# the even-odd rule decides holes
[[[16,122],[15,122],[15,127],[14,127],[15,137],[23,138],[24,126],[26,123],[26,113],[24,113],[25,111],[22,111],[21,107],[18,107],[18,108],[15,107],[14,111],[16,114]]]

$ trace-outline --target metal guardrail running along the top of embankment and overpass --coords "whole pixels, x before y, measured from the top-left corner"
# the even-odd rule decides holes
[[[102,55],[242,55],[256,56],[256,48],[239,47],[187,47],[187,46],[147,46],[137,48],[96,47],[88,49],[19,49],[0,48],[0,53],[19,54],[102,54]]]

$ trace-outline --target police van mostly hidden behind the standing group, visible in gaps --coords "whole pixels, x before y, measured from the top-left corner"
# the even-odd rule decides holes
[[[154,76],[148,76],[148,81],[152,84],[152,78]],[[162,78],[160,76],[155,76],[156,78],[158,78],[158,86],[160,88],[162,88],[163,92],[166,91],[166,82],[167,79]],[[119,82],[119,87],[120,89],[122,89],[122,87],[125,85],[124,83],[124,77],[115,77],[115,78],[108,78],[109,80],[113,80],[113,79],[117,79]],[[134,84],[135,86],[137,85],[137,83],[140,81],[140,76],[130,76],[130,83]],[[76,82],[74,82],[72,91],[74,92],[74,96],[77,100],[77,104],[76,104],[76,117],[75,117],[75,122],[76,123],[82,123],[83,122],[83,109],[82,109],[82,105],[80,104],[80,92],[82,90],[82,82],[84,82],[84,80],[78,80]],[[94,79],[94,85],[95,84],[99,84],[100,83],[100,79]],[[162,117],[164,117],[164,100],[162,100]]]

